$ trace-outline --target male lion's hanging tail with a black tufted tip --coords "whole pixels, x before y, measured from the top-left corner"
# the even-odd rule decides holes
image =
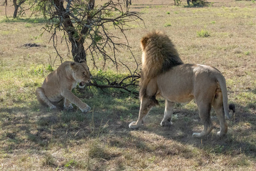
[[[222,92],[222,99],[223,99],[223,107],[224,107],[224,113],[227,119],[230,119],[229,110],[233,111],[233,115],[235,113],[235,105],[234,104],[227,104],[227,86],[226,86],[226,80],[222,74],[217,76],[217,80],[220,83],[221,92]],[[232,115],[232,116],[233,116]]]

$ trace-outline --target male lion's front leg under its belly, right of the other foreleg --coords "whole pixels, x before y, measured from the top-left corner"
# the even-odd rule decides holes
[[[165,111],[164,111],[164,119],[161,121],[161,126],[169,126],[172,124],[172,113],[174,109],[174,102],[165,100]]]

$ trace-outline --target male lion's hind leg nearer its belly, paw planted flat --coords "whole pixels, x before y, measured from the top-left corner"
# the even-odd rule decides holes
[[[204,124],[204,130],[201,133],[193,133],[192,137],[202,137],[208,135],[212,129],[213,124],[210,119],[210,109],[212,108],[212,104],[203,103],[198,106],[199,109],[199,116]]]

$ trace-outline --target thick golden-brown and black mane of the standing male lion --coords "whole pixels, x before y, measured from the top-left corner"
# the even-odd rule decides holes
[[[169,37],[162,31],[152,31],[140,41],[142,69],[140,79],[140,98],[146,95],[149,81],[172,67],[184,64]]]

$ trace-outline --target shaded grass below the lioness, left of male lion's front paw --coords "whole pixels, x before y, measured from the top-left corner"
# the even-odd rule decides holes
[[[57,108],[51,110],[37,101],[31,103],[31,108],[1,108],[0,123],[4,133],[0,136],[0,141],[5,142],[2,143],[5,144],[2,145],[2,150],[6,153],[12,153],[17,149],[47,150],[52,144],[67,148],[67,144],[72,146],[71,141],[96,137],[113,129],[122,128],[124,126],[122,119],[125,117],[123,112],[139,109],[134,104],[123,108],[121,101],[117,102],[116,99],[111,98],[105,101],[109,104],[105,109],[100,107],[102,104],[99,99],[91,101],[86,99],[86,103],[95,103],[95,107],[87,113],[81,112],[75,105],[74,109],[66,111],[63,109],[63,103],[57,104]],[[111,111],[115,107],[117,109]]]

